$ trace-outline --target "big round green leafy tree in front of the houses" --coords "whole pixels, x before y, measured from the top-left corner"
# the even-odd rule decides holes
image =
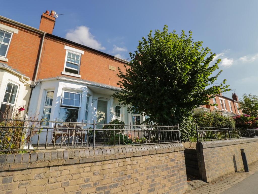
[[[212,95],[228,91],[226,80],[212,85],[222,71],[212,75],[221,60],[210,65],[215,54],[202,43],[193,42],[191,31],[189,35],[184,31],[181,35],[168,33],[166,25],[154,36],[150,31],[135,53],[130,52],[132,60],[125,65],[125,72],[119,69],[122,91],[113,96],[121,105],[129,105],[129,112],[137,110],[149,116],[147,122],[180,123],[183,140],[189,139],[193,109],[208,104]]]

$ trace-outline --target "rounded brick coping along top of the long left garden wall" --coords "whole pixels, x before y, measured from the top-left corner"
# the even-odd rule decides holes
[[[258,141],[258,138],[256,138]],[[93,149],[51,150],[24,154],[1,154],[0,171],[86,163],[158,153],[183,151],[182,143],[120,146]],[[10,157],[11,156],[11,157]],[[14,160],[17,158],[16,160]],[[23,159],[24,158],[24,159]],[[30,162],[29,162],[30,161]]]

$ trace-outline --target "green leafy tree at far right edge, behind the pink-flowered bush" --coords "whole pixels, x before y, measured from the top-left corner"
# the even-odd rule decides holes
[[[240,100],[240,109],[244,114],[258,117],[258,96],[252,94],[244,94]]]

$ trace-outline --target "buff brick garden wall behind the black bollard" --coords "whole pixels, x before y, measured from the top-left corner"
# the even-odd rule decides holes
[[[205,141],[197,144],[202,179],[212,182],[243,168],[240,149],[245,149],[248,164],[258,160],[258,138]]]

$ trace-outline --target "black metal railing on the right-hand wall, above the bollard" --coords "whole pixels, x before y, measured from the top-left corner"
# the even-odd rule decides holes
[[[199,127],[196,125],[197,142],[222,139],[258,137],[258,129]]]

